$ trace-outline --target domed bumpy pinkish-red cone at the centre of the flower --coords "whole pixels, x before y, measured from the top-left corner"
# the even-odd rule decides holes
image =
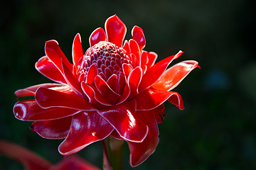
[[[101,41],[85,52],[81,64],[78,66],[78,74],[83,74],[85,78],[90,66],[95,64],[98,74],[107,81],[113,74],[116,74],[117,77],[119,74],[124,74],[122,71],[124,63],[132,66],[132,60],[125,54],[122,47],[117,47],[111,42]],[[84,80],[80,79],[80,81]]]

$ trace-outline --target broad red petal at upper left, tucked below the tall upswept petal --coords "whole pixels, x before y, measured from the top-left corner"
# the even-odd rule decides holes
[[[48,79],[58,83],[67,84],[63,74],[61,74],[60,70],[48,59],[47,56],[41,57],[41,59],[36,62],[36,69]]]

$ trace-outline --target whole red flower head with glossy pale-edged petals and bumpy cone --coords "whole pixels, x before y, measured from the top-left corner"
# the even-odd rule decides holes
[[[164,120],[164,101],[183,109],[181,96],[171,91],[198,62],[180,62],[166,70],[183,52],[156,61],[144,51],[142,28],[134,26],[132,39],[124,41],[126,26],[117,16],[90,35],[90,48],[82,52],[80,35],[73,42],[73,64],[55,40],[46,42],[46,56],[36,69],[59,84],[39,84],[15,92],[35,99],[18,101],[14,115],[35,121],[32,130],[48,139],[65,140],[63,155],[80,151],[109,135],[128,142],[130,164],[149,157],[159,142],[157,123]]]

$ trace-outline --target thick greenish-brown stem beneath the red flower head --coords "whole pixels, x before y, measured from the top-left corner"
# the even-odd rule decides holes
[[[122,170],[122,144],[124,140],[107,137],[102,141],[103,170]]]

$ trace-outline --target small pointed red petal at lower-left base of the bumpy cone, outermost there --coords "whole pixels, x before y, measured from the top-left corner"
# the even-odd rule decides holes
[[[85,84],[85,82],[82,82],[81,85],[82,91],[86,94],[87,98],[89,98],[92,106],[97,106],[98,109],[104,108],[105,106],[112,106],[105,98],[103,98],[97,89],[93,89],[93,86]]]

